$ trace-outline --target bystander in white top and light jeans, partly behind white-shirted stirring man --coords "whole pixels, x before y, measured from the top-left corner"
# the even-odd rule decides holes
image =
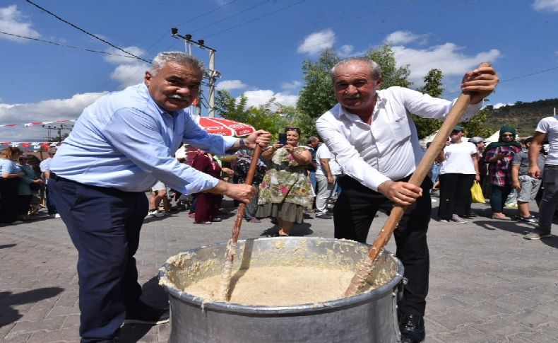
[[[321,144],[316,151],[316,218],[331,219],[328,212],[328,200],[331,198],[341,167],[326,144]]]

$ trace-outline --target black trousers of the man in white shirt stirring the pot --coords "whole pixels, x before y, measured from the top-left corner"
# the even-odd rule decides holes
[[[407,181],[409,178],[399,181]],[[348,175],[339,178],[338,182],[343,191],[333,208],[335,238],[366,243],[376,211],[389,211],[393,202]],[[403,298],[398,303],[399,310],[406,314],[425,315],[430,268],[427,231],[432,210],[429,194],[431,188],[432,180],[426,178],[422,182],[422,197],[408,207],[393,233],[397,245],[396,256],[403,263],[404,276],[409,281],[405,285]]]

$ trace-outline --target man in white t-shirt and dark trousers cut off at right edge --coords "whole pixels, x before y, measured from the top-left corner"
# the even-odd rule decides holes
[[[527,174],[531,178],[541,178],[541,170],[537,161],[540,153],[542,141],[548,139],[548,155],[545,161],[545,175],[542,178],[542,185],[545,191],[539,205],[539,224],[533,233],[523,236],[525,239],[538,240],[550,238],[550,227],[552,217],[558,204],[558,116],[542,118],[537,124],[533,141],[529,146],[529,170]]]

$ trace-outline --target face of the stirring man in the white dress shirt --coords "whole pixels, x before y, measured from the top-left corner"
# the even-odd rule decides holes
[[[352,61],[336,68],[333,88],[337,101],[357,115],[372,113],[380,86],[381,77],[377,81],[372,79],[366,62]]]

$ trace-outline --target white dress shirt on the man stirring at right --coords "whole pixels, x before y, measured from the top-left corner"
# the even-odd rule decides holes
[[[403,87],[376,92],[371,124],[337,104],[316,121],[323,142],[336,156],[343,173],[377,191],[387,180],[415,171],[424,152],[411,114],[444,119],[455,100],[432,98]],[[473,117],[482,101],[469,105],[462,120]]]

